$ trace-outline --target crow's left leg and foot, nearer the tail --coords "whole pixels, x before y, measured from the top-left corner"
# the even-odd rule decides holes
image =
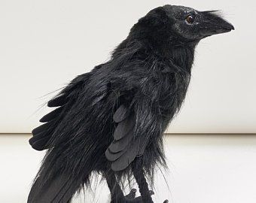
[[[136,196],[136,189],[132,189],[128,195],[124,196],[114,174],[108,174],[105,178],[111,192],[111,203],[133,202],[133,199]]]

